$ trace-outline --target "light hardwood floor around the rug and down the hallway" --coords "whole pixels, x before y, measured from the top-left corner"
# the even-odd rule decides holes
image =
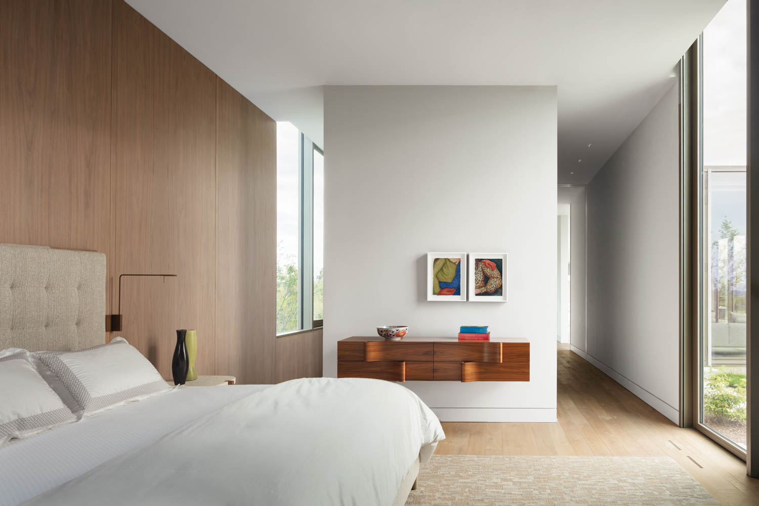
[[[558,423],[442,423],[436,454],[669,456],[722,504],[759,504],[745,462],[680,429],[569,350],[558,351]]]

